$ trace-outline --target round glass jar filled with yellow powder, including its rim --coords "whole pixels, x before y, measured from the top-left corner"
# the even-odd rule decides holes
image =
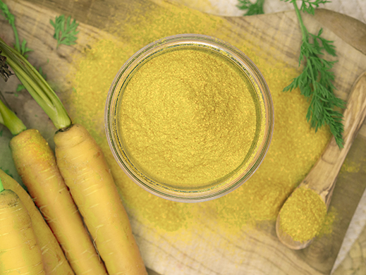
[[[197,56],[197,58],[193,59],[190,56]],[[209,59],[214,61],[208,63]],[[197,71],[197,79],[195,76],[192,77],[191,67],[189,67],[193,60],[195,65],[192,65],[192,68],[205,66],[203,71],[206,73],[200,73],[202,70]],[[162,62],[161,66],[154,68],[153,63],[157,62]],[[182,63],[187,63],[188,67],[182,67]],[[212,68],[207,67],[216,63],[219,65],[212,65]],[[174,65],[176,67],[169,67],[171,64],[176,64]],[[162,69],[165,67],[169,71],[162,73],[165,72]],[[174,76],[170,79],[169,75],[176,75],[179,71],[178,68],[189,69],[183,71],[180,76]],[[161,70],[161,73],[159,70]],[[220,70],[224,71],[221,72]],[[215,75],[216,71],[221,73],[218,78],[213,76],[205,78],[205,75],[209,75],[209,72]],[[231,74],[228,74],[228,72]],[[228,74],[228,77],[233,77],[234,81],[229,81],[226,76],[222,76],[226,74]],[[154,78],[152,75],[155,75]],[[184,81],[188,84],[185,84],[187,87],[184,89],[190,90],[189,101],[195,102],[195,109],[202,109],[202,105],[209,104],[209,100],[216,102],[221,97],[230,97],[231,94],[240,95],[237,100],[227,99],[227,101],[221,102],[221,104],[226,104],[227,107],[219,105],[220,101],[215,103],[216,105],[212,109],[221,110],[221,113],[223,113],[222,118],[216,113],[207,113],[206,110],[205,116],[209,116],[207,121],[213,123],[212,125],[220,126],[217,133],[210,128],[207,128],[209,131],[206,133],[205,128],[197,127],[197,123],[201,122],[197,119],[198,122],[196,123],[195,118],[190,121],[190,119],[178,117],[176,119],[178,121],[181,119],[181,121],[173,123],[169,127],[167,123],[164,123],[164,121],[169,121],[169,114],[172,112],[173,106],[170,106],[167,103],[168,101],[161,103],[163,97],[170,97],[169,93],[173,93],[175,87],[181,85],[180,82],[174,82],[173,84],[173,82],[164,81],[179,81],[175,78],[181,78],[183,82],[185,76],[187,76],[187,79],[184,79]],[[205,79],[202,80],[203,84],[199,82],[201,78]],[[235,86],[234,82],[237,82],[238,85]],[[170,89],[164,90],[164,87],[161,88],[161,86],[164,86],[161,83],[168,83],[166,87],[170,87]],[[220,87],[221,84],[223,87]],[[194,89],[193,87],[196,87],[196,85],[201,85],[200,87],[204,88],[202,90]],[[216,89],[215,91],[219,95],[212,95],[212,90],[208,90],[207,85],[214,85],[212,89]],[[230,86],[230,89],[232,86],[238,87],[238,90],[228,90],[231,92],[226,92],[226,86]],[[244,89],[244,87],[246,88]],[[157,90],[150,91],[150,89],[164,91],[164,95],[155,97],[154,94]],[[178,95],[174,95],[176,102],[178,102],[178,99],[175,98],[185,94],[185,90],[182,90],[183,92]],[[192,97],[192,92],[196,94],[196,97]],[[250,97],[248,97],[248,94],[250,94]],[[159,97],[161,97],[161,102]],[[182,100],[186,101],[185,98]],[[237,107],[237,102],[242,101],[249,102],[249,105],[254,107],[244,106],[245,104]],[[176,102],[172,104],[176,104]],[[150,106],[153,104],[159,107],[154,109]],[[196,105],[200,106],[197,107]],[[185,108],[183,102],[178,102],[177,106],[181,108],[178,112],[182,113],[182,117],[185,115],[186,109],[191,109],[189,105]],[[163,114],[165,109],[168,111]],[[238,111],[233,111],[236,109]],[[242,109],[244,111],[240,111]],[[243,112],[245,114],[247,109],[251,110],[248,111],[247,116],[239,116]],[[233,123],[228,121],[226,125],[226,114],[224,116],[226,112],[233,113],[231,116],[238,116],[238,118],[235,121],[233,120]],[[212,114],[215,114],[215,118],[212,117]],[[201,115],[204,116],[203,113]],[[228,116],[229,120],[231,120],[231,116]],[[162,117],[164,119],[163,123],[155,124],[155,117]],[[188,112],[188,117],[196,117],[196,114],[192,116]],[[248,118],[249,122],[243,124],[242,118],[245,121]],[[144,119],[145,122],[142,121]],[[220,120],[224,122],[218,122]],[[183,130],[177,130],[183,128],[182,123],[187,124],[187,126],[184,126]],[[118,71],[106,99],[105,128],[106,138],[114,158],[121,166],[121,169],[135,183],[150,193],[168,200],[201,202],[230,193],[255,173],[267,154],[272,139],[274,108],[267,83],[255,64],[243,52],[215,37],[196,34],[174,35],[159,39],[143,47],[128,59]],[[161,132],[159,128],[166,128],[168,132]],[[237,128],[239,130],[233,130]],[[247,128],[252,129],[251,132],[245,132],[249,131]],[[248,135],[248,142],[243,142],[240,129],[243,129],[243,135]],[[176,147],[169,147],[173,146],[170,145],[171,142],[183,139],[183,135],[188,135],[188,132],[189,135],[192,135],[192,140],[188,138],[188,140],[176,142]],[[228,135],[229,138],[223,139],[224,132],[233,133],[233,135]],[[169,135],[169,139],[164,139],[165,135]],[[219,140],[220,137],[221,140]],[[209,141],[197,142],[196,138]],[[152,144],[152,140],[155,139],[164,140],[164,142],[154,142]],[[235,145],[235,147],[231,147],[231,145]],[[203,148],[202,151],[200,151],[200,148]],[[190,150],[189,154],[192,154],[192,159],[187,157],[189,155],[188,150]],[[231,156],[234,154],[237,159],[231,164]],[[205,161],[195,162],[195,159],[200,158],[205,159]],[[210,162],[207,159],[212,160]],[[177,167],[177,169],[174,167]]]

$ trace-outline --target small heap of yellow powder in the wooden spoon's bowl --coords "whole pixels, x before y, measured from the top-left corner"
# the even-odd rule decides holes
[[[324,224],[327,207],[314,190],[296,189],[279,213],[281,229],[295,241],[311,240]]]

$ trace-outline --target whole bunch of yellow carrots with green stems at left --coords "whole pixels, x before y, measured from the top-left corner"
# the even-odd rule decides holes
[[[58,129],[53,152],[0,101],[29,193],[0,170],[0,274],[147,274],[102,149],[16,49],[0,51]]]

